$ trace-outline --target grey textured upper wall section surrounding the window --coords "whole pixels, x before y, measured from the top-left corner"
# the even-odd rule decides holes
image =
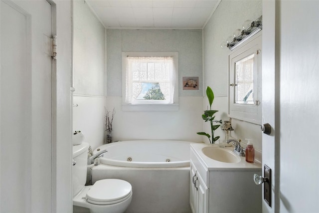
[[[202,96],[202,31],[107,29],[107,96],[122,96],[122,52],[178,52],[179,96]],[[199,90],[182,90],[182,77],[199,77]]]

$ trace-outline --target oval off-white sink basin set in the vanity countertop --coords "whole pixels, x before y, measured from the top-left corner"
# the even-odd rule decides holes
[[[235,153],[225,148],[204,147],[201,151],[208,158],[211,158],[215,161],[219,161],[223,163],[233,163],[233,164],[240,162],[239,156],[237,156]]]

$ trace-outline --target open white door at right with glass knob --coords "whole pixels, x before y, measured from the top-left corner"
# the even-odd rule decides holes
[[[318,0],[263,0],[262,114],[272,126],[262,138],[272,169],[263,213],[319,212],[318,11]]]

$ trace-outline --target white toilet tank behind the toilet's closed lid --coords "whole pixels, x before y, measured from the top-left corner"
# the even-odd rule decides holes
[[[72,166],[72,197],[77,195],[86,183],[88,148],[89,144],[85,142],[73,146],[72,158],[76,164]]]

